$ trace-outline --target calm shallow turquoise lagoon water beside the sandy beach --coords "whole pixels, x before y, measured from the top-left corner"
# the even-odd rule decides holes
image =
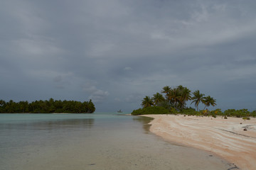
[[[0,170],[228,169],[225,160],[149,132],[116,113],[0,114]]]

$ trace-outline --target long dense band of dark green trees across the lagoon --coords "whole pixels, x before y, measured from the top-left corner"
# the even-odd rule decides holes
[[[92,101],[3,101],[0,100],[0,113],[93,113],[95,105]]]

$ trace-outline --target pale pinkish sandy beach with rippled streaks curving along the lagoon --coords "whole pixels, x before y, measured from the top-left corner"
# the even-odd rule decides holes
[[[256,118],[144,115],[165,140],[218,154],[242,170],[256,169]]]

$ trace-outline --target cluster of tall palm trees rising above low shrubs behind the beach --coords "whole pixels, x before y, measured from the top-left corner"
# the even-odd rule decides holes
[[[163,106],[165,108],[176,108],[177,110],[182,111],[183,108],[186,108],[186,102],[191,101],[191,104],[195,103],[198,111],[199,103],[203,103],[205,105],[204,109],[206,109],[206,107],[216,105],[216,100],[214,98],[201,94],[199,90],[194,91],[192,95],[193,96],[191,96],[191,90],[181,85],[174,88],[164,86],[161,94],[156,93],[152,98],[146,96],[142,100],[142,106],[144,108],[149,106]]]

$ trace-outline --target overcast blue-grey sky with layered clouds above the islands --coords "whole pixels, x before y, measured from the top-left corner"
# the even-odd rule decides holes
[[[255,0],[1,0],[0,99],[132,111],[187,86],[256,109]]]

